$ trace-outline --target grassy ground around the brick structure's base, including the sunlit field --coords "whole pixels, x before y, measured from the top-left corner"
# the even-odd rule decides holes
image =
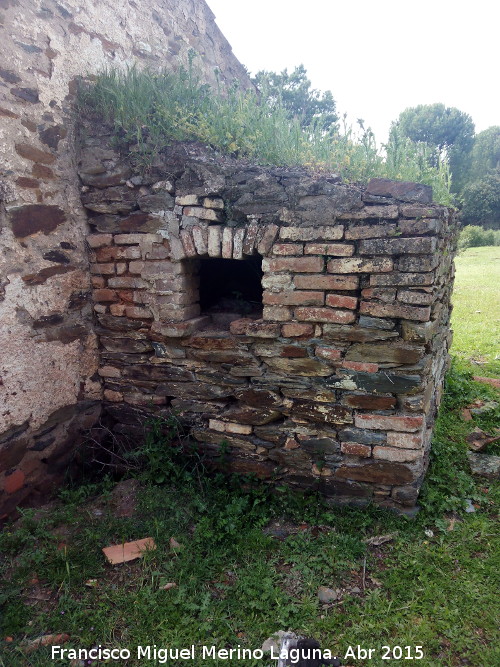
[[[155,465],[130,482],[130,516],[120,516],[123,502],[105,479],[64,490],[57,502],[25,511],[0,535],[0,665],[68,665],[68,659],[52,661],[49,648],[27,653],[24,644],[66,633],[65,647],[132,651],[128,661],[99,664],[155,664],[135,659],[136,647],[195,644],[194,661],[169,664],[265,667],[269,660],[203,660],[201,646],[256,649],[281,629],[316,637],[341,656],[358,644],[375,649],[371,660],[348,657],[344,665],[408,664],[384,660],[383,646],[402,647],[415,658],[420,646],[424,657],[417,664],[426,667],[500,664],[500,485],[471,477],[465,440],[474,426],[493,429],[495,415],[472,422],[461,416],[475,399],[499,400],[467,372],[469,356],[494,360],[493,295],[478,294],[479,285],[495,285],[490,267],[497,252],[472,249],[457,262],[460,359],[448,374],[415,519],[376,508],[331,508],[286,490],[272,494],[251,480],[200,476],[179,468],[165,454],[171,450],[153,440],[145,458]],[[472,309],[483,311],[477,333],[460,320]],[[494,368],[470,367],[481,374]],[[168,484],[155,483],[159,460]],[[474,511],[465,512],[467,506]],[[276,522],[288,536],[268,534]],[[391,538],[379,546],[366,542],[386,534]],[[105,562],[103,547],[147,536],[157,549],[140,561]],[[172,548],[172,537],[180,548]],[[165,590],[167,583],[176,586]],[[337,600],[322,604],[319,586],[335,589]]]

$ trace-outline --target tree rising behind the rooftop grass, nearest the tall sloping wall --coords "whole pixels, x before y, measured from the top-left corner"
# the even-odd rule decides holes
[[[311,88],[304,65],[293,72],[284,69],[279,74],[261,70],[252,81],[257,86],[261,100],[271,106],[282,105],[290,118],[299,118],[302,127],[313,124],[324,131],[337,131],[336,103],[330,90]]]

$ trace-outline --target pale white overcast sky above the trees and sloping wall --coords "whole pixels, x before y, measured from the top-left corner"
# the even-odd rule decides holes
[[[407,107],[442,102],[500,125],[498,0],[207,0],[252,74],[304,64],[340,114],[385,141]]]

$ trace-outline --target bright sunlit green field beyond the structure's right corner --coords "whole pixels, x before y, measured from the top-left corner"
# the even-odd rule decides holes
[[[500,375],[500,246],[468,248],[456,260],[452,353],[476,375]]]

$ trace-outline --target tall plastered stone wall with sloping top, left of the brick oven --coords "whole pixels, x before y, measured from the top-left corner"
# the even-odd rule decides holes
[[[0,517],[61,477],[97,418],[75,82],[106,66],[244,68],[203,0],[0,0]]]

